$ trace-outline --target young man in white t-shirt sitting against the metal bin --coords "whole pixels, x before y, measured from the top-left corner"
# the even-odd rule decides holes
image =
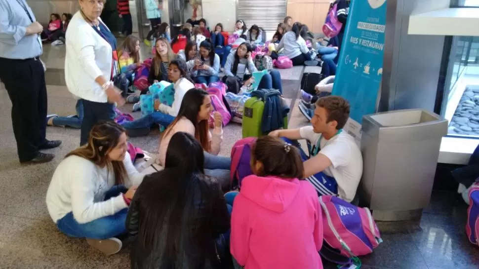
[[[304,176],[319,195],[335,195],[351,202],[362,175],[362,155],[354,138],[342,128],[349,118],[348,101],[339,96],[319,98],[312,126],[276,130],[269,135],[311,143],[310,157],[301,151]]]

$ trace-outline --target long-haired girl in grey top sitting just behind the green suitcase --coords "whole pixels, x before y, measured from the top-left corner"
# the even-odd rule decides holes
[[[231,91],[237,91],[239,86],[248,86],[253,83],[251,73],[257,72],[253,59],[251,58],[251,52],[253,48],[248,42],[243,42],[239,45],[236,51],[233,51],[228,55],[228,59],[225,64],[225,74],[223,82],[226,83],[228,89]],[[264,75],[259,82],[258,88],[260,89],[278,89],[282,93],[281,75],[277,70],[271,70],[268,74]],[[238,93],[238,92],[236,92]]]

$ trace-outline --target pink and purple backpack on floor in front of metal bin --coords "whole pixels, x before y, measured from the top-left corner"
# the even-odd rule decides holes
[[[319,197],[323,214],[324,240],[345,257],[372,253],[381,235],[368,208],[354,206],[331,195]]]

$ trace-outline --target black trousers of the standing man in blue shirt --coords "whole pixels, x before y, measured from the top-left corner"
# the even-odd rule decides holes
[[[46,143],[45,72],[38,58],[0,58],[0,79],[12,102],[12,125],[20,161],[29,161]]]

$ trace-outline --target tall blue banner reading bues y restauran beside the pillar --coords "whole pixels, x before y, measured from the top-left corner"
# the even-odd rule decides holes
[[[376,111],[383,74],[387,0],[352,0],[332,94],[349,101],[344,130],[361,140],[362,116]]]

